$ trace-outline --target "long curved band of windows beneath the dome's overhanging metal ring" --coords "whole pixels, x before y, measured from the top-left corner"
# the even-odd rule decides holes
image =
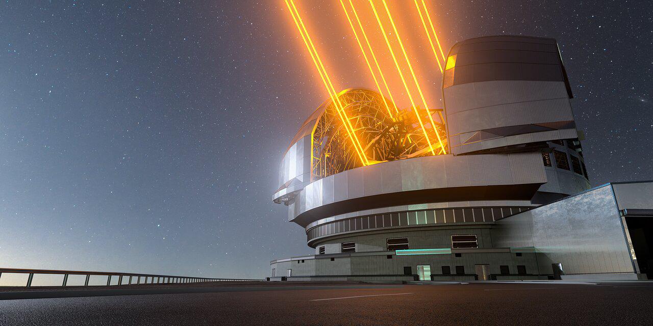
[[[411,226],[423,224],[462,223],[462,222],[494,222],[506,216],[527,211],[530,207],[485,207],[428,209],[424,211],[409,211],[387,213],[383,215],[362,216],[347,220],[336,220],[306,231],[308,241],[325,235],[347,231],[388,228],[393,226]]]

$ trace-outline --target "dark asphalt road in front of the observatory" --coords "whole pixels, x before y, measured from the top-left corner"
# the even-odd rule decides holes
[[[173,293],[168,291],[165,294],[145,294],[147,288],[133,290],[139,290],[140,295],[119,295],[124,293],[91,289],[86,294],[101,296],[50,299],[8,299],[3,297],[7,293],[0,293],[0,299],[4,299],[0,300],[0,325],[653,323],[653,282],[314,286],[275,283],[225,285],[219,288],[210,285],[178,286],[171,288]],[[161,291],[161,288],[157,291]],[[52,295],[52,291],[49,292]],[[38,297],[33,293],[32,297]]]

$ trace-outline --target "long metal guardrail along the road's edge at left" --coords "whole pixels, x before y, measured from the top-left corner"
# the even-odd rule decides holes
[[[106,286],[111,286],[112,276],[118,276],[118,284],[114,285],[132,285],[132,284],[181,284],[181,283],[199,283],[199,282],[264,282],[265,280],[248,279],[248,278],[206,278],[206,277],[190,277],[190,276],[176,276],[176,275],[159,275],[159,274],[138,274],[138,273],[117,273],[117,272],[91,272],[91,271],[61,271],[56,269],[16,269],[16,268],[0,268],[0,278],[3,273],[12,274],[29,274],[27,276],[27,284],[25,287],[32,286],[34,274],[50,274],[62,275],[63,283],[61,286],[68,286],[69,275],[86,275],[84,286],[88,286],[91,276],[107,276]],[[123,283],[125,276],[129,276],[129,280]],[[141,282],[141,278],[143,282]],[[132,282],[135,280],[135,282]]]

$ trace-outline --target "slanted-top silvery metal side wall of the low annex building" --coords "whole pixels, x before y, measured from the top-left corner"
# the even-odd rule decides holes
[[[499,220],[497,247],[537,250],[542,274],[562,263],[567,274],[634,273],[621,216],[610,186]]]

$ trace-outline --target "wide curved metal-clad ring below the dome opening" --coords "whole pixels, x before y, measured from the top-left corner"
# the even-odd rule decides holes
[[[355,168],[301,190],[297,198],[300,205],[302,201],[306,204],[298,208],[293,221],[307,226],[336,215],[351,217],[361,211],[375,214],[387,211],[387,207],[438,202],[470,205],[479,200],[528,201],[547,181],[541,166],[541,154],[531,152],[424,156]],[[333,202],[321,196],[330,180]],[[367,190],[368,187],[374,189]]]

